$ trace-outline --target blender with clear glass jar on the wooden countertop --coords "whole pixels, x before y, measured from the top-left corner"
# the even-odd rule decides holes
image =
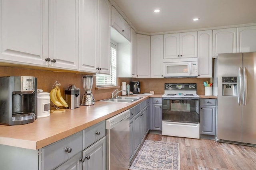
[[[84,94],[82,96],[81,105],[94,105],[94,98],[92,95],[93,76],[83,76]]]

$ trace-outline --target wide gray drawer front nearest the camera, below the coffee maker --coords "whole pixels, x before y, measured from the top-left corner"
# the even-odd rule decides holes
[[[82,131],[43,147],[41,151],[41,169],[50,170],[56,168],[66,160],[82,151]]]

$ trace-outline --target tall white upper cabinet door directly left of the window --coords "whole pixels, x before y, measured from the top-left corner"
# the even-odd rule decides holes
[[[108,0],[98,0],[98,73],[110,74],[110,25],[111,4]]]

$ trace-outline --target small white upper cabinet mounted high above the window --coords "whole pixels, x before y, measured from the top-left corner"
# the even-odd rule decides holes
[[[112,6],[112,26],[120,32],[124,37],[131,41],[131,27]]]

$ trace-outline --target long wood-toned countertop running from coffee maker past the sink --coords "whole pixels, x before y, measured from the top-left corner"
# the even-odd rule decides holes
[[[140,96],[141,99],[131,103],[95,102],[92,106],[66,109],[64,113],[51,113],[48,117],[37,118],[26,125],[0,125],[0,144],[40,149],[117,115],[151,96]]]

